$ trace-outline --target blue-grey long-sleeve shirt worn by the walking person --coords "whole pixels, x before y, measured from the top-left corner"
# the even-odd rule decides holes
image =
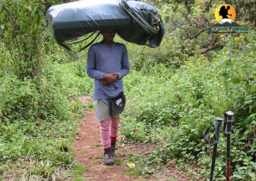
[[[127,49],[124,44],[95,43],[89,48],[87,74],[94,79],[94,100],[113,98],[124,91],[122,78],[129,71]],[[103,73],[118,73],[119,78],[113,84],[103,85]]]

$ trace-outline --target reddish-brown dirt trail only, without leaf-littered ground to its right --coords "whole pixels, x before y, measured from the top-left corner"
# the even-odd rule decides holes
[[[84,104],[89,98],[80,97]],[[75,160],[85,168],[82,177],[84,180],[132,180],[130,176],[123,174],[127,169],[124,163],[121,165],[105,166],[103,162],[103,149],[100,144],[99,122],[95,120],[95,112],[85,111],[81,126],[78,126],[79,135],[74,143]],[[119,158],[116,158],[119,159]]]

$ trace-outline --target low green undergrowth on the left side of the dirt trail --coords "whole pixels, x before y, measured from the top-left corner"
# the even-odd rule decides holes
[[[70,144],[85,109],[78,96],[92,92],[82,64],[46,65],[39,90],[29,78],[0,78],[0,178],[63,179],[73,167]]]

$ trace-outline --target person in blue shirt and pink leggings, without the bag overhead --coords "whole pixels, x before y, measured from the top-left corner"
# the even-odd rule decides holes
[[[89,48],[86,69],[88,76],[94,79],[93,100],[96,119],[100,122],[103,163],[109,165],[114,164],[120,113],[125,105],[122,78],[130,68],[126,46],[113,41],[115,30],[100,33],[103,40]]]

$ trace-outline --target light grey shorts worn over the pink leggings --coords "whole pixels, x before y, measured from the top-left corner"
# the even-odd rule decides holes
[[[110,116],[114,116],[115,118],[120,118],[120,114],[116,114],[111,112],[111,100],[110,98],[106,98],[103,100],[93,100],[95,113],[96,113],[96,120],[102,121],[105,119],[110,118]]]

